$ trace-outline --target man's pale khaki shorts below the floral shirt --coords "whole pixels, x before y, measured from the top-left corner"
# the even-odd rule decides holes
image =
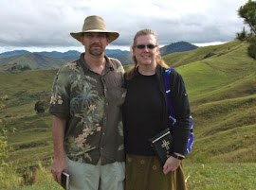
[[[124,162],[113,164],[82,164],[65,157],[70,190],[123,190]]]

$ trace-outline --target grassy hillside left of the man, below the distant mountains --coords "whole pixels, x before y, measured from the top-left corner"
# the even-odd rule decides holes
[[[14,148],[10,158],[18,167],[48,162],[52,157],[50,135],[51,116],[38,115],[34,105],[38,100],[49,102],[50,89],[57,70],[29,70],[17,73],[0,73],[2,95],[6,107],[0,119],[9,131],[9,145]]]

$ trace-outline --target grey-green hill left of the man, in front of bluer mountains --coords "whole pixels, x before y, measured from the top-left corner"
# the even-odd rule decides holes
[[[56,59],[51,57],[42,56],[39,54],[23,54],[20,56],[10,56],[0,59],[0,66],[16,62],[19,65],[28,66],[31,69],[49,69],[59,68],[68,62],[66,59]]]

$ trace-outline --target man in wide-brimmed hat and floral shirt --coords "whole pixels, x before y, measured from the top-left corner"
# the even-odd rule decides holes
[[[119,60],[104,54],[119,33],[108,31],[101,17],[89,16],[82,32],[70,35],[84,45],[85,53],[65,64],[53,83],[51,172],[60,183],[66,171],[71,190],[120,190],[124,181],[120,113],[124,70]]]

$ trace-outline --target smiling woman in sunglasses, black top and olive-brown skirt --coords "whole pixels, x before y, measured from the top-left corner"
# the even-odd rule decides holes
[[[149,139],[170,127],[164,73],[157,36],[151,29],[137,32],[131,47],[134,67],[125,75],[123,124],[126,150],[126,190],[186,189],[181,159],[190,134],[190,104],[181,76],[172,71],[170,84],[176,115],[174,155],[162,167]],[[175,158],[174,158],[175,157]]]

